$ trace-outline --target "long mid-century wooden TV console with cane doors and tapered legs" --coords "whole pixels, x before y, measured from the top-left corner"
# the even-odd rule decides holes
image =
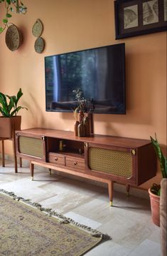
[[[112,205],[114,182],[138,186],[156,175],[156,154],[150,140],[109,135],[76,137],[72,131],[18,130],[16,155],[34,165],[108,184]]]

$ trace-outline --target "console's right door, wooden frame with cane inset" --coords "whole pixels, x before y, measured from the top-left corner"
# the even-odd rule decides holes
[[[91,172],[114,181],[136,184],[136,149],[85,143],[85,162]]]

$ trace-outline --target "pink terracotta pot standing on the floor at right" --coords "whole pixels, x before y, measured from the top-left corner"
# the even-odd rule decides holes
[[[154,195],[151,193],[151,189],[149,188],[149,197],[150,197],[150,203],[151,203],[151,216],[153,223],[160,226],[160,210],[159,210],[159,202],[160,202],[160,196]]]

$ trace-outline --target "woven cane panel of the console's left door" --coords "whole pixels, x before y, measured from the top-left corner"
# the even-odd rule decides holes
[[[19,151],[26,155],[32,155],[37,158],[43,157],[43,140],[40,138],[31,138],[19,136]]]

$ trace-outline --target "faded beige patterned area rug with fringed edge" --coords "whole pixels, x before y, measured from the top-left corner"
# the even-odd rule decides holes
[[[79,256],[110,237],[0,190],[0,255]]]

